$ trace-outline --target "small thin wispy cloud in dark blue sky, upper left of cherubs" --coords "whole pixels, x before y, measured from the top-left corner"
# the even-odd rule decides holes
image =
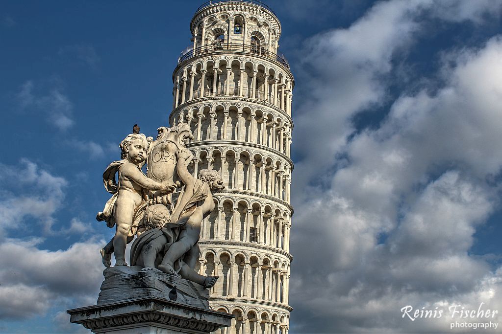
[[[21,109],[35,109],[45,113],[47,121],[59,130],[67,130],[74,124],[72,119],[73,104],[62,93],[60,88],[52,88],[45,93],[36,93],[35,90],[42,87],[35,86],[32,80],[23,84],[17,94],[17,100]]]

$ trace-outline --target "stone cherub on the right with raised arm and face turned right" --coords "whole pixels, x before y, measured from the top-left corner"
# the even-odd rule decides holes
[[[183,148],[176,152],[178,158],[176,172],[185,189],[171,215],[170,225],[180,227],[179,237],[167,250],[158,268],[165,273],[177,275],[174,263],[197,245],[202,220],[214,210],[213,194],[224,189],[223,180],[215,170],[203,169],[199,179],[190,174],[187,161],[193,158],[190,150]],[[198,246],[197,246],[198,249]]]

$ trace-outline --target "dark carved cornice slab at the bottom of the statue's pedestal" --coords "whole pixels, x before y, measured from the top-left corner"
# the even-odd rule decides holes
[[[70,309],[70,322],[94,333],[209,333],[231,324],[232,314],[154,297]]]

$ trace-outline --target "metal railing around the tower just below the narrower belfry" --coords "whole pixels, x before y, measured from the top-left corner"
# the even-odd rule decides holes
[[[213,43],[210,45],[204,45],[201,47],[197,47],[195,49],[188,47],[185,49],[180,57],[178,58],[178,64],[192,58],[194,56],[202,55],[202,54],[210,54],[211,52],[219,52],[219,51],[237,51],[237,52],[245,52],[249,54],[262,55],[271,59],[275,59],[280,64],[289,69],[289,63],[286,57],[282,53],[275,53],[269,50],[266,50],[260,46],[252,46],[252,45],[243,45],[243,44],[225,44],[225,43]]]

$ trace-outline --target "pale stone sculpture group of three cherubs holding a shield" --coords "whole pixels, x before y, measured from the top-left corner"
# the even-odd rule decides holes
[[[139,132],[137,125],[135,130]],[[108,227],[116,226],[115,235],[101,249],[103,264],[109,267],[114,253],[115,266],[127,266],[126,246],[136,236],[131,272],[158,272],[195,282],[200,288],[212,287],[218,276],[195,271],[200,256],[197,242],[203,219],[215,209],[213,194],[224,189],[222,178],[212,169],[201,170],[199,178],[188,171],[193,154],[185,144],[193,135],[187,124],[158,131],[155,141],[140,133],[128,135],[120,143],[121,160],[112,162],[103,173],[104,186],[113,195],[96,219]],[[145,163],[147,175],[141,169]],[[126,272],[130,271],[114,269],[107,279]]]

